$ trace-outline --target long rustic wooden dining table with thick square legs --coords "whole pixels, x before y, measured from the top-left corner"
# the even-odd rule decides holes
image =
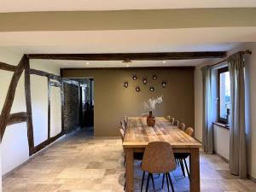
[[[129,117],[123,147],[125,150],[125,191],[134,191],[133,154],[143,152],[150,142],[164,141],[172,145],[174,153],[189,153],[190,191],[200,191],[201,143],[189,137],[164,117],[155,118],[155,125],[148,126],[146,117]]]

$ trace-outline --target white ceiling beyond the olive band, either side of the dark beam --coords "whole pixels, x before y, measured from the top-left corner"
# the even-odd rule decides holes
[[[256,42],[256,27],[87,32],[0,32],[0,48],[21,54],[227,51]],[[197,66],[207,60],[133,61],[130,67]],[[125,67],[121,61],[44,61],[59,67]]]

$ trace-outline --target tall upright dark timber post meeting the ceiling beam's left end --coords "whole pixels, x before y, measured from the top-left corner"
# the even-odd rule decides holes
[[[31,101],[31,85],[30,85],[30,64],[29,59],[25,58],[25,96],[26,96],[26,125],[29,155],[34,153],[34,134],[32,123],[32,101]]]

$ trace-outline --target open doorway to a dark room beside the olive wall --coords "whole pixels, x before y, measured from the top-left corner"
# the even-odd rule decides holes
[[[64,130],[94,134],[94,79],[64,81]]]

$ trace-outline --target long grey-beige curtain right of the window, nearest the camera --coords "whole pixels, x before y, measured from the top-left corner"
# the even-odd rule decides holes
[[[247,150],[245,129],[245,84],[243,53],[228,58],[230,70],[230,172],[247,177]]]

